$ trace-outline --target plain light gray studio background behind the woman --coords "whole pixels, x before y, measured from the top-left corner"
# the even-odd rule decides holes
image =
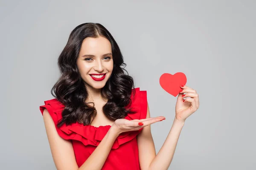
[[[122,51],[136,87],[148,92],[157,152],[176,97],[159,84],[183,72],[200,108],[181,132],[170,170],[255,170],[256,2],[0,1],[0,169],[54,170],[39,105],[52,99],[57,59],[81,23],[101,23]]]

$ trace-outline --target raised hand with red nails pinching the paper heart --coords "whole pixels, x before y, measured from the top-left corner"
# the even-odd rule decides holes
[[[198,110],[199,96],[194,89],[189,88],[186,85],[180,88],[183,90],[181,89],[181,92],[177,97],[175,106],[175,119],[179,120],[180,122],[185,122],[186,118]],[[183,99],[184,97],[190,98]]]

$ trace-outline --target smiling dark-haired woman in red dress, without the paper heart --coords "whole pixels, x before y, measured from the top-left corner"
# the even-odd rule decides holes
[[[172,128],[156,155],[149,125],[165,117],[150,117],[146,91],[134,88],[123,65],[101,24],[84,23],[71,32],[58,58],[55,98],[40,106],[58,170],[168,169],[185,120],[199,107],[198,94],[181,85]]]

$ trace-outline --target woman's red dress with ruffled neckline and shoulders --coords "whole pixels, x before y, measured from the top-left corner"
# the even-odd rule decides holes
[[[136,113],[128,114],[125,119],[145,119],[147,115],[147,92],[140,91],[140,88],[134,88],[134,91],[136,93],[134,97],[131,95],[130,107],[134,108]],[[44,101],[44,104],[40,106],[41,113],[43,114],[44,108],[47,108],[56,127],[58,120],[62,117],[61,111],[64,109],[64,105],[57,99]],[[76,122],[68,126],[64,124],[60,128],[56,127],[56,130],[63,139],[71,140],[76,163],[80,167],[93,153],[110,127],[110,125],[84,126]],[[121,133],[116,138],[102,170],[140,170],[137,135],[142,129]]]

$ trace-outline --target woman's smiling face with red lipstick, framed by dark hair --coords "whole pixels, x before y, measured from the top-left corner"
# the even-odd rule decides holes
[[[113,71],[111,43],[105,37],[85,38],[76,64],[88,90],[103,88]]]

